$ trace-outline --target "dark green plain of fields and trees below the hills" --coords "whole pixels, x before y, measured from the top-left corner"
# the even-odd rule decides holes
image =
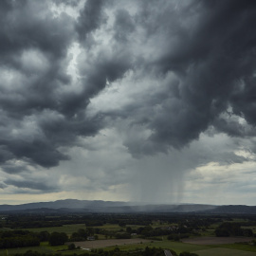
[[[164,255],[164,249],[180,256],[256,253],[255,215],[3,214],[0,220],[0,255],[157,256]],[[212,237],[210,244],[201,243],[206,237]],[[230,244],[214,245],[214,237],[229,238],[226,241]],[[233,237],[246,240],[234,244]],[[137,241],[134,238],[142,240],[133,244]],[[184,243],[187,238],[190,243]],[[129,239],[130,243],[113,246],[117,241],[114,239]],[[97,242],[102,240],[109,243],[104,247],[98,243],[97,247]],[[192,244],[192,241],[200,243]]]

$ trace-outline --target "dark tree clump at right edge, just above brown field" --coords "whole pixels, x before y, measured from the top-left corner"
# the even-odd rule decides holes
[[[241,224],[236,222],[224,222],[217,229],[215,235],[218,237],[225,236],[253,236],[251,229],[241,229]]]

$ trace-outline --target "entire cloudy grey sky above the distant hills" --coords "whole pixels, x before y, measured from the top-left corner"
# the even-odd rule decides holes
[[[256,1],[0,1],[0,204],[256,205]]]

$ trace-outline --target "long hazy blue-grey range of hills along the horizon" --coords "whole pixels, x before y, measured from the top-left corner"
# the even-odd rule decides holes
[[[256,207],[213,206],[203,204],[139,204],[101,200],[65,199],[54,202],[38,202],[23,205],[0,205],[0,212],[201,212],[201,213],[247,213],[256,214]]]

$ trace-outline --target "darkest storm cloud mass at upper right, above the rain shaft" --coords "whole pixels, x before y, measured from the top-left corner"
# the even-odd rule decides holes
[[[161,84],[165,91],[152,98],[144,95],[126,113],[118,112],[153,131],[147,142],[151,149],[140,147],[142,154],[166,151],[170,146],[182,148],[211,125],[230,136],[248,136],[247,123],[233,119],[230,129],[229,119],[221,121],[220,115],[229,111],[233,117],[255,124],[256,36],[250,28],[256,24],[255,3],[191,1],[183,7],[161,1],[157,9],[155,5],[155,1],[142,2],[134,17],[136,26],[145,32],[145,47],[147,42],[155,44],[152,58],[140,58],[138,53],[135,64],[159,83],[171,72],[176,80]],[[129,34],[126,25],[120,22],[117,33],[123,29]],[[131,44],[132,40],[136,38],[132,37]],[[224,129],[225,122],[229,128]],[[131,141],[126,145],[135,154],[139,151],[137,145],[132,148]]]

